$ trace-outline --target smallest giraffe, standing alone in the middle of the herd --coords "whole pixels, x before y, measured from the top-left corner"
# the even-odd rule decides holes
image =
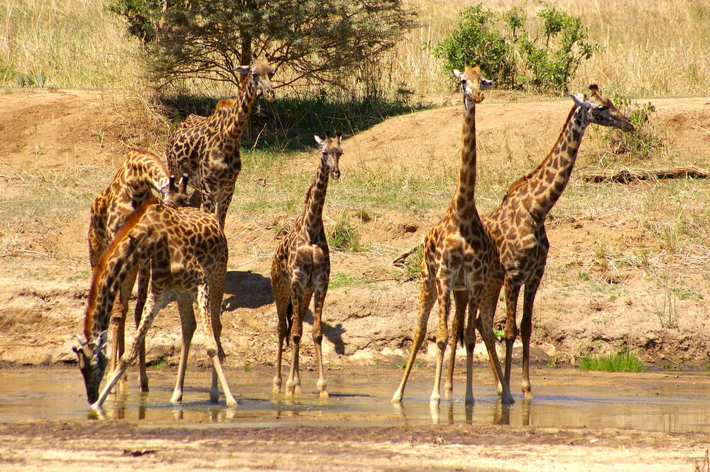
[[[328,292],[330,278],[330,256],[328,242],[323,229],[323,206],[328,188],[328,177],[340,178],[339,160],[343,153],[341,133],[335,138],[325,133],[325,139],[314,136],[320,144],[322,154],[320,166],[313,183],[306,192],[305,207],[296,220],[293,229],[276,248],[271,264],[271,287],[275,295],[278,314],[278,354],[276,375],[273,378],[273,393],[281,392],[281,357],[283,341],[291,338],[293,361],[286,381],[286,396],[300,393],[301,380],[298,375],[298,349],[303,332],[303,319],[308,311],[311,297],[313,309],[313,343],[318,367],[318,391],[321,398],[328,397],[328,389],[323,371],[321,344],[323,331],[321,316],[323,302]]]

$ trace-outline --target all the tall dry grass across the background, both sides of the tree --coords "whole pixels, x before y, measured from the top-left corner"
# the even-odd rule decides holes
[[[469,1],[422,0],[423,26],[410,32],[378,72],[391,89],[445,92],[449,77],[426,45],[437,45],[456,27]],[[486,0],[494,11],[524,0]],[[106,2],[6,0],[0,5],[0,82],[18,87],[17,76],[43,72],[48,86],[128,87],[141,70],[136,43],[109,16]],[[710,4],[704,0],[548,0],[583,19],[590,40],[604,50],[585,62],[571,89],[591,82],[633,97],[704,95],[710,89]],[[529,16],[542,4],[527,2]],[[209,84],[192,84],[217,92]],[[219,92],[217,92],[219,93]]]

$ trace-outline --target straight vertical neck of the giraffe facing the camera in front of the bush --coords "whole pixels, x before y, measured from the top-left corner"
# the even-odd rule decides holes
[[[464,97],[464,120],[461,130],[461,168],[457,190],[452,199],[452,214],[459,221],[469,221],[478,216],[474,190],[476,190],[476,104]]]

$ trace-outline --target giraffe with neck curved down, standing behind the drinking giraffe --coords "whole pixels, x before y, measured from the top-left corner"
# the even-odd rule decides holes
[[[89,219],[89,264],[96,267],[126,219],[138,207],[153,197],[153,191],[165,204],[182,207],[186,204],[187,177],[183,176],[179,185],[175,177],[168,174],[163,162],[148,150],[129,148],[126,159],[116,170],[111,183],[97,195],[92,203]],[[149,275],[147,267],[136,268],[126,277],[119,290],[114,309],[111,312],[111,371],[116,368],[116,360],[124,352],[124,329],[128,302],[133,291],[133,283],[138,275],[138,301],[136,302],[136,326],[141,319],[146,301]],[[148,391],[146,374],[146,350],[141,346],[139,355],[139,384],[141,392]]]

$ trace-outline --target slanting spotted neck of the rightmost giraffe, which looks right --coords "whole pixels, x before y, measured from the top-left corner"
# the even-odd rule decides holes
[[[545,221],[545,216],[562,196],[567,187],[569,176],[572,175],[574,163],[577,160],[579,143],[589,124],[586,111],[573,106],[567,116],[567,122],[550,154],[530,172],[527,179],[528,211],[538,224]],[[528,206],[527,204],[525,206]]]

